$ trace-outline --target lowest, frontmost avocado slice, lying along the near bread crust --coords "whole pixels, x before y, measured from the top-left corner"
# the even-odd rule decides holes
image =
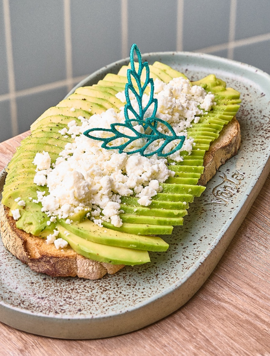
[[[65,228],[57,226],[60,237],[67,241],[72,249],[80,255],[111,264],[135,265],[150,262],[147,251],[125,247],[106,246],[80,238],[72,232],[65,233]]]

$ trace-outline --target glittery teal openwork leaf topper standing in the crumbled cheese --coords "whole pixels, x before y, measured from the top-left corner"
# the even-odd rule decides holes
[[[135,63],[134,63],[134,51],[137,54],[138,57],[138,71],[136,71],[135,68]],[[131,69],[127,70],[127,78],[128,78],[128,83],[126,84],[125,87],[125,96],[126,96],[126,101],[127,104],[125,105],[124,108],[124,114],[125,114],[125,123],[114,123],[110,124],[110,129],[102,129],[102,128],[95,128],[95,129],[90,129],[84,132],[84,135],[92,138],[94,140],[99,140],[103,141],[101,147],[106,148],[106,149],[118,149],[120,153],[126,152],[127,154],[132,154],[139,152],[141,155],[147,157],[151,156],[153,154],[157,154],[158,156],[166,157],[167,155],[170,155],[176,151],[178,151],[184,143],[185,136],[177,136],[174,129],[171,127],[169,123],[166,121],[162,120],[161,118],[156,117],[157,109],[158,109],[158,100],[153,98],[153,93],[154,93],[154,84],[152,78],[149,78],[149,66],[147,62],[142,63],[141,59],[141,54],[140,51],[137,47],[136,44],[133,44],[131,46],[130,50],[130,64],[131,64]],[[145,68],[145,81],[144,84],[141,84],[141,75],[142,71]],[[136,81],[136,87],[134,87],[132,83],[132,77]],[[134,82],[134,80],[133,80]],[[147,88],[147,86],[150,86],[150,95],[149,95],[149,101],[147,105],[143,108],[142,105],[142,96]],[[131,104],[130,100],[130,91],[135,95],[138,107],[139,107],[139,112],[137,112],[134,107]],[[147,109],[149,108],[150,105],[153,104],[153,111],[150,117],[144,117]],[[130,118],[129,117],[129,111],[135,116],[135,118]],[[170,132],[170,135],[166,135],[164,133],[161,133],[158,130],[158,123],[165,125]],[[140,125],[140,131],[136,128],[137,125]],[[126,129],[125,132],[130,132],[131,135],[128,135],[124,133],[123,131]],[[122,131],[119,131],[121,130]],[[112,134],[111,137],[103,138],[103,137],[96,137],[92,136],[89,133],[90,132],[95,132],[95,131],[103,131],[103,132],[109,132]],[[143,131],[143,132],[141,132]],[[113,145],[112,141],[117,140],[117,139],[126,139],[126,141],[122,144],[118,145]],[[125,148],[132,143],[135,143],[134,141],[138,139],[144,139],[145,144],[137,148],[136,144],[133,145],[133,149],[131,150],[125,150]],[[159,142],[162,142],[157,147],[155,150],[150,150],[151,143],[155,142],[156,140],[160,140]],[[165,147],[172,141],[178,140],[179,143],[177,146],[170,150],[169,152],[164,153],[163,150]],[[121,140],[122,141],[122,140]],[[122,141],[123,142],[123,141]],[[146,151],[147,147],[149,147],[148,151]]]

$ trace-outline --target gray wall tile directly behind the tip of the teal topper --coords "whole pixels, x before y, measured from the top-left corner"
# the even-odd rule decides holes
[[[128,3],[128,44],[141,53],[176,50],[177,1],[136,0]]]

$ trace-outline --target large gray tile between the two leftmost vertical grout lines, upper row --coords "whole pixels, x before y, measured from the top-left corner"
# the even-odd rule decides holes
[[[63,2],[10,1],[16,90],[66,75]]]

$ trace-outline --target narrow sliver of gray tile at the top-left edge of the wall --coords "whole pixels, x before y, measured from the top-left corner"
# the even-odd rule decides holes
[[[9,92],[3,2],[0,2],[0,95]]]

